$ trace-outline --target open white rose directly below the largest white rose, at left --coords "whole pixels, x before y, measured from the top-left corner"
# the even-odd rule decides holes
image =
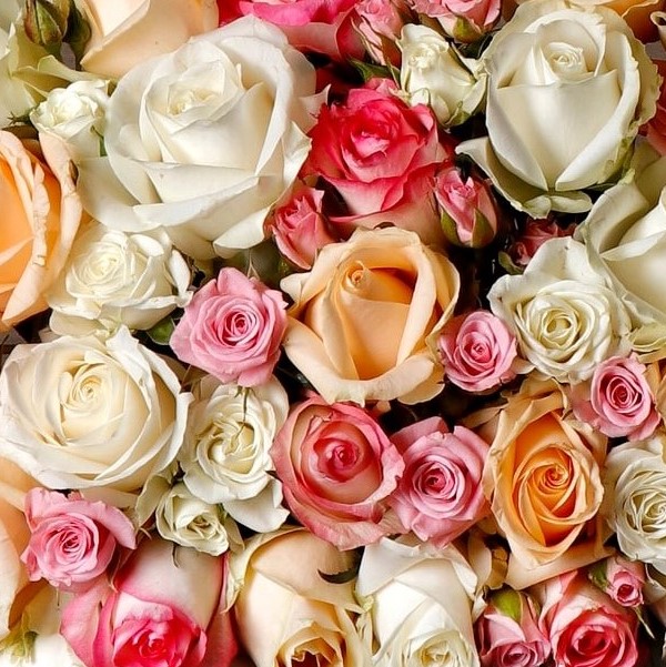
[[[93,221],[47,294],[49,324],[60,335],[147,330],[190,302],[189,284],[188,264],[164,233],[125,234]]]

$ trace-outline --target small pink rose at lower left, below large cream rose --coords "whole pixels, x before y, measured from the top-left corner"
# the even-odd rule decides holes
[[[32,582],[80,590],[107,572],[118,547],[137,546],[132,522],[117,507],[33,488],[26,496],[30,542],[21,555]]]

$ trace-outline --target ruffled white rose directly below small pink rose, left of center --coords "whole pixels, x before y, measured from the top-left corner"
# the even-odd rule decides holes
[[[289,514],[269,454],[286,420],[286,392],[274,377],[248,388],[210,375],[195,391],[180,455],[184,483],[253,530],[274,530]]]

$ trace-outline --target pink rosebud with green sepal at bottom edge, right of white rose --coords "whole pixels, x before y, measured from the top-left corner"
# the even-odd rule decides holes
[[[507,588],[493,594],[475,629],[483,667],[541,667],[551,655],[526,593]]]

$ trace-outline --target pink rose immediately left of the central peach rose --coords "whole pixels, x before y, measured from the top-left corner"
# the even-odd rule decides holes
[[[194,294],[170,345],[182,362],[221,382],[256,386],[278,363],[285,307],[281,292],[225,267]]]

